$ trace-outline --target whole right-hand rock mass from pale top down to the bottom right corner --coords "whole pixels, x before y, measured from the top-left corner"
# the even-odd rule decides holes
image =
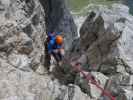
[[[132,22],[128,7],[114,4],[92,11],[80,29],[81,47],[91,68],[111,76],[112,93],[122,99],[124,96],[120,93],[124,91],[124,100],[133,98],[130,84],[133,74]]]

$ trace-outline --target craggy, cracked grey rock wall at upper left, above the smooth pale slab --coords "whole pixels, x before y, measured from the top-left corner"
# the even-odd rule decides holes
[[[46,38],[41,5],[33,0],[1,0],[0,6],[1,57],[16,67],[41,66]]]

